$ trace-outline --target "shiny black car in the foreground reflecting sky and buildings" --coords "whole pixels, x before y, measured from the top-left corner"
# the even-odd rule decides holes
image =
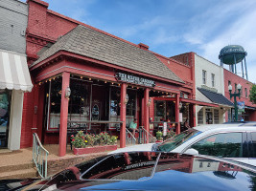
[[[2,190],[254,190],[256,168],[227,159],[132,152],[84,161],[46,180],[0,180]]]

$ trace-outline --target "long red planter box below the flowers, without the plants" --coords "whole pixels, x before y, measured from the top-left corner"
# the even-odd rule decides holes
[[[86,148],[74,148],[74,155],[83,155],[89,153],[100,153],[105,151],[114,151],[117,150],[117,145],[105,145],[105,146],[94,146]]]

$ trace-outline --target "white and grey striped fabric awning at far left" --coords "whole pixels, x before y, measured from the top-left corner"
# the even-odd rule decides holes
[[[0,51],[0,89],[31,92],[33,84],[25,55]]]

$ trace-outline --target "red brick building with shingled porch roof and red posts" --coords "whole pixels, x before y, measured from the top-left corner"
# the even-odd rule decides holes
[[[134,118],[150,131],[150,115],[154,119],[155,114],[150,97],[169,101],[170,112],[165,108],[166,118],[159,119],[172,116],[176,133],[180,101],[193,118],[192,65],[50,11],[43,1],[27,3],[27,55],[35,86],[24,96],[22,148],[32,145],[36,132],[43,143],[59,143],[63,156],[67,129],[98,133],[116,130],[118,123],[124,147],[126,127]],[[182,72],[186,76],[180,78]]]

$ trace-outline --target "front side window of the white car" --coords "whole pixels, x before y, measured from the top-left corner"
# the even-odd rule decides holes
[[[221,158],[242,158],[242,133],[216,134],[203,138],[191,148],[198,150],[200,155]]]

